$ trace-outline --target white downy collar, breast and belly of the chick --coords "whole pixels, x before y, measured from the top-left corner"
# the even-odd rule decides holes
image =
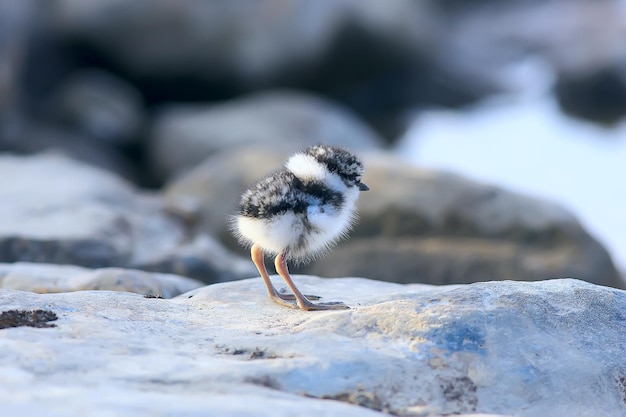
[[[270,218],[240,215],[236,217],[234,229],[240,242],[248,246],[256,243],[264,252],[272,254],[278,254],[289,248],[289,259],[304,262],[330,248],[351,228],[356,218],[355,204],[359,189],[357,186],[348,187],[337,174],[330,172],[324,164],[310,155],[295,154],[289,158],[285,166],[302,180],[320,181],[328,188],[341,193],[343,203],[339,207],[322,205],[311,198],[306,218],[304,214],[296,214],[293,211],[286,211]]]

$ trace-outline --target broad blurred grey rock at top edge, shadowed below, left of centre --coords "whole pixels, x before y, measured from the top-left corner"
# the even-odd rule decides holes
[[[368,38],[378,42],[390,38],[419,52],[432,25],[419,14],[427,14],[425,7],[406,0],[389,1],[385,7],[370,0],[296,0],[280,10],[271,1],[149,4],[148,8],[146,3],[89,0],[77,8],[64,0],[55,3],[51,13],[67,36],[107,53],[135,77],[186,75],[247,89],[284,83],[281,75],[287,81],[307,79],[313,72],[307,67],[323,62],[333,46],[347,38],[344,31],[358,37],[353,45]],[[386,45],[394,48],[394,42]],[[389,50],[369,48],[369,52],[385,57],[383,52]]]

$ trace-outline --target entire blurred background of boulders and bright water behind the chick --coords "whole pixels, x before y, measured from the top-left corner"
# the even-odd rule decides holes
[[[0,262],[253,276],[240,192],[327,142],[372,191],[304,272],[623,287],[625,41],[623,0],[4,0]]]

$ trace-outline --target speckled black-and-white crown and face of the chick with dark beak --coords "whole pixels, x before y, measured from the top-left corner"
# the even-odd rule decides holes
[[[361,191],[368,188],[361,182],[363,164],[352,153],[345,149],[329,145],[315,145],[303,152],[312,157],[329,172],[337,174],[348,187],[358,187]]]

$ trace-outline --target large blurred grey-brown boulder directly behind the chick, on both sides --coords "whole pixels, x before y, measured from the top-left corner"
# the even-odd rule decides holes
[[[228,216],[241,193],[286,157],[282,149],[219,153],[165,188],[168,209],[237,250]],[[576,277],[624,286],[607,250],[558,204],[382,152],[363,160],[370,191],[359,198],[350,237],[295,271],[428,284]]]

